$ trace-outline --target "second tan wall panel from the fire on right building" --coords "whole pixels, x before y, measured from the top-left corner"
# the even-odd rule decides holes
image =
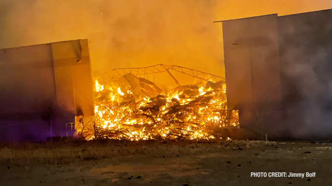
[[[277,15],[249,19],[249,32],[254,104],[280,101]]]

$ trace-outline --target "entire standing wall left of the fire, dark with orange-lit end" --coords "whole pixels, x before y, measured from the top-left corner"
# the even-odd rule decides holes
[[[0,50],[0,141],[72,136],[93,115],[88,40]]]

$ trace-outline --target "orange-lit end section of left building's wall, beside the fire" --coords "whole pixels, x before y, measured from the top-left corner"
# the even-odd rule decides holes
[[[84,116],[94,115],[93,82],[88,40],[51,43],[57,103],[64,110]]]

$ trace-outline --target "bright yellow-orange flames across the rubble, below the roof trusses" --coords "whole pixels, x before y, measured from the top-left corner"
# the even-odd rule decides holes
[[[231,121],[227,120],[225,86],[221,90],[213,90],[201,84],[197,93],[190,96],[184,95],[183,90],[169,91],[163,94],[166,103],[155,112],[143,108],[155,104],[156,97],[134,95],[130,87],[126,88],[125,94],[120,87],[100,85],[95,81],[96,92],[105,90],[104,87],[111,91],[105,98],[106,101],[95,102],[94,121],[97,130],[110,133],[102,135],[106,138],[132,141],[174,139],[179,137],[176,136],[177,133],[181,133],[181,136],[190,140],[215,139],[211,133],[213,127],[238,124],[237,110],[232,111]],[[209,102],[198,101],[192,104],[193,100],[209,95],[212,97]],[[190,103],[193,107],[186,107]],[[174,106],[178,106],[180,110],[173,113],[174,117],[167,116]],[[91,137],[93,138],[95,136]]]

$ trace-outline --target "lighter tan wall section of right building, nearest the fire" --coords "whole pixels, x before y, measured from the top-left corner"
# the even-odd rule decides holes
[[[257,136],[261,122],[273,118],[269,122],[273,125],[281,120],[280,113],[261,116],[273,111],[281,100],[277,15],[222,24],[227,107],[239,110],[240,125],[248,130],[246,135],[251,132]]]

